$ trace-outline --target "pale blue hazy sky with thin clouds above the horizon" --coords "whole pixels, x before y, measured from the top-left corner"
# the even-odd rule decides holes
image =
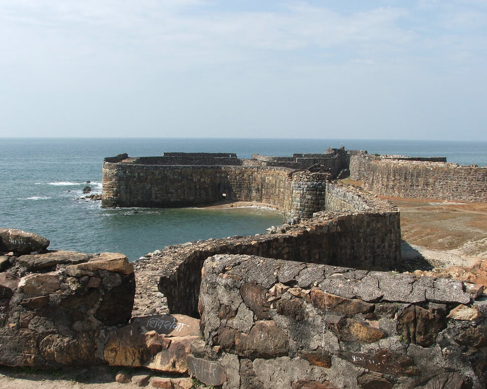
[[[485,0],[2,0],[0,137],[487,140],[485,69]]]

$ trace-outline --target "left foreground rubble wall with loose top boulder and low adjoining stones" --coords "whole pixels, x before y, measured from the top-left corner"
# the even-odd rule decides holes
[[[167,378],[169,387],[193,387],[186,359],[202,348],[198,319],[131,318],[135,279],[123,254],[48,245],[0,228],[0,365],[148,367],[180,374]]]

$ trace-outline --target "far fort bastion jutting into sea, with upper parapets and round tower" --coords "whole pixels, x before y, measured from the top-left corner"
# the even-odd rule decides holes
[[[284,211],[286,222],[325,209],[325,182],[347,171],[349,154],[238,159],[234,153],[119,154],[103,162],[103,207],[194,207],[252,201]]]

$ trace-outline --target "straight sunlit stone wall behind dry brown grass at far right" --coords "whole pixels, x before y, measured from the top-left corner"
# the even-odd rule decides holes
[[[487,202],[487,167],[371,161],[365,187],[379,195]]]

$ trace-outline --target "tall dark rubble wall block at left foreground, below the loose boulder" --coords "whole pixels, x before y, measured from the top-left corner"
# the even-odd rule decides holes
[[[105,331],[129,321],[134,293],[122,254],[10,256],[0,273],[0,365],[105,363]]]

